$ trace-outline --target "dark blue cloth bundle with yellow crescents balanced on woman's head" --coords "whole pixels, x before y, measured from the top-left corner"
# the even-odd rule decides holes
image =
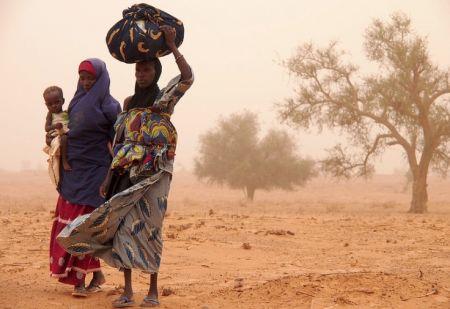
[[[177,46],[183,42],[183,23],[153,6],[136,4],[124,10],[122,15],[123,18],[106,35],[109,52],[119,61],[135,63],[170,54],[159,30],[162,25],[175,28]]]

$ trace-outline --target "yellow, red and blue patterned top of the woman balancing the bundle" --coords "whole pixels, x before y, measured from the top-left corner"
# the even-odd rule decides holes
[[[118,116],[116,132],[123,130],[124,139],[114,147],[112,169],[130,170],[134,182],[160,170],[172,173],[177,131],[170,115],[193,81],[193,75],[186,81],[182,81],[180,76],[172,79],[153,105],[161,110],[159,113],[150,108],[140,108]]]

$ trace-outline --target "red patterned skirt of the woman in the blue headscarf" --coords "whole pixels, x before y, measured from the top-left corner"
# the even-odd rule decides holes
[[[50,276],[58,278],[59,282],[80,286],[84,283],[87,273],[100,270],[98,258],[90,255],[72,256],[56,241],[56,236],[67,224],[78,216],[91,213],[94,209],[87,205],[72,204],[61,195],[58,198],[50,236]]]

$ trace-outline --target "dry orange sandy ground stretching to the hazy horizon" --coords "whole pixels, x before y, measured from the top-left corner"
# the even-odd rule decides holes
[[[164,222],[162,308],[450,308],[450,181],[430,213],[406,214],[403,177],[295,192],[242,192],[177,173]],[[56,193],[43,172],[0,172],[0,308],[109,308],[122,276],[105,266],[88,299],[49,277]],[[135,298],[148,278],[134,272]]]

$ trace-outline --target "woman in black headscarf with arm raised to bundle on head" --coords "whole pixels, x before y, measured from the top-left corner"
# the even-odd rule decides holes
[[[150,273],[148,295],[141,306],[159,305],[157,278],[162,254],[162,225],[173,173],[177,132],[170,117],[193,83],[193,74],[176,44],[176,32],[161,26],[165,43],[180,75],[160,90],[158,59],[136,63],[133,96],[115,125],[113,158],[101,194],[108,199],[83,222],[60,234],[59,241],[75,254],[91,253],[124,272],[124,293],[116,308],[134,305],[131,270]]]

